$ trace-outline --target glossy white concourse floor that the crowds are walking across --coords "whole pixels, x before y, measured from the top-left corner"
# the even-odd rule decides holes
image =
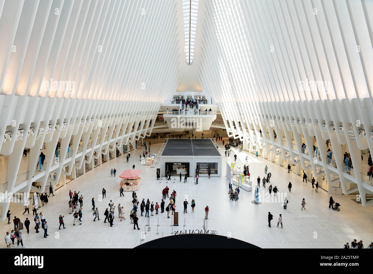
[[[158,152],[161,144],[151,146],[152,152]],[[222,148],[221,142],[219,142]],[[139,154],[142,148],[131,153],[129,163],[126,158],[110,160],[94,170],[88,171],[85,175],[78,177],[68,185],[60,188],[55,193],[56,196],[49,198],[48,205],[40,208],[38,212],[43,211],[48,221],[48,238],[43,238],[43,230],[36,234],[32,212],[30,215],[22,216],[22,205],[11,204],[10,210],[12,217],[20,217],[22,222],[29,216],[31,219],[30,234],[23,229],[23,242],[26,248],[133,248],[148,240],[163,236],[171,236],[172,227],[171,218],[167,219],[166,213],[159,213],[150,217],[150,231],[145,229],[145,217],[139,217],[139,226],[141,230],[134,230],[129,221],[129,212],[132,208],[131,193],[125,193],[125,197],[119,197],[119,174],[122,170],[131,169],[132,164],[137,169],[141,169],[142,186],[138,190],[139,200],[142,198],[150,201],[161,202],[162,189],[166,185],[176,190],[176,211],[179,212],[179,226],[173,227],[173,230],[200,230],[203,227],[204,208],[206,205],[210,208],[207,229],[214,230],[219,235],[227,235],[236,239],[244,240],[257,245],[261,248],[342,248],[346,242],[353,239],[363,240],[364,247],[367,247],[373,241],[373,211],[372,208],[364,208],[361,205],[351,201],[352,195],[335,195],[334,200],[341,204],[341,211],[333,211],[328,208],[329,195],[324,190],[316,193],[310,183],[303,183],[300,176],[287,171],[262,158],[256,159],[252,154],[248,155],[250,173],[254,185],[256,185],[257,176],[264,176],[264,166],[267,165],[272,174],[271,184],[279,189],[278,195],[286,196],[289,204],[286,210],[282,204],[274,202],[262,202],[260,205],[251,203],[254,193],[246,192],[241,189],[239,200],[230,201],[228,197],[228,181],[224,177],[226,169],[226,158],[223,157],[222,177],[200,177],[198,185],[194,185],[193,179],[188,178],[188,183],[176,183],[173,180],[156,180],[156,169],[150,166],[142,166],[139,161]],[[231,156],[235,149],[232,149]],[[222,151],[223,152],[223,151]],[[223,153],[222,153],[223,154]],[[243,161],[248,153],[237,153],[237,163],[242,167]],[[233,157],[232,157],[233,159]],[[159,167],[159,164],[157,164]],[[110,169],[116,168],[117,177],[110,177]],[[292,191],[287,190],[288,182],[292,182]],[[98,197],[101,189],[105,188],[107,197],[99,202]],[[268,185],[267,185],[268,188]],[[73,217],[69,214],[68,201],[69,190],[80,191],[84,198],[83,224],[81,226],[72,226]],[[260,191],[263,191],[262,188]],[[265,190],[268,192],[268,190]],[[79,194],[79,195],[80,195]],[[273,194],[272,194],[273,195]],[[101,221],[93,222],[91,211],[91,199],[95,198],[96,206],[100,211]],[[301,200],[305,198],[307,203],[306,211],[301,211]],[[114,227],[104,224],[104,211],[110,201],[117,206],[118,203],[124,205],[126,210],[126,220],[119,221],[117,212],[114,219]],[[189,205],[192,199],[197,203],[195,213],[191,213],[188,207],[188,214],[183,214],[182,202],[188,199]],[[273,214],[272,225],[269,228],[267,222],[268,211]],[[160,212],[160,210],[159,210]],[[64,221],[66,229],[58,230],[58,216],[65,215]],[[140,216],[140,210],[138,210]],[[276,227],[278,215],[282,214],[283,229]],[[144,214],[145,215],[145,214]],[[185,227],[184,225],[185,218]],[[159,222],[157,235],[157,223]],[[13,224],[7,224],[7,221],[0,223],[0,233],[5,235],[7,231],[13,229]],[[146,232],[147,234],[143,234]],[[141,237],[144,241],[141,242]],[[173,236],[177,237],[177,236]],[[107,242],[108,241],[108,242]],[[5,245],[2,245],[5,248]]]

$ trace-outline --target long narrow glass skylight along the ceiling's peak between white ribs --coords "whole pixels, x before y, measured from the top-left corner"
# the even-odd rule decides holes
[[[198,0],[183,0],[186,63],[193,63]]]

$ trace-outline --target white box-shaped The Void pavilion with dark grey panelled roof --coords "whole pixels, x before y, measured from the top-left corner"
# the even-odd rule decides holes
[[[222,156],[211,139],[166,139],[160,155],[162,176],[220,177]]]

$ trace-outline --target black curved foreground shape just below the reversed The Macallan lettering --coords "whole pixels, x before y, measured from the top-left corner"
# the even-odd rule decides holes
[[[251,243],[213,234],[181,234],[161,237],[134,248],[260,248]]]

